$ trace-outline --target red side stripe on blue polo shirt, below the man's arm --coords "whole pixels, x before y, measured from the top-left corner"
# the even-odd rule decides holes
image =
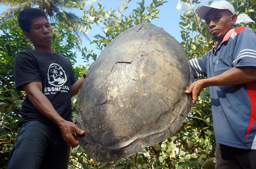
[[[251,114],[250,114],[250,122],[249,122],[249,125],[247,127],[247,132],[246,132],[244,141],[246,140],[246,137],[248,136],[249,132],[251,131],[252,126],[255,122],[255,118],[256,118],[255,84],[254,84],[254,81],[246,83],[246,89],[247,89],[248,97],[250,98],[250,101],[251,101]]]

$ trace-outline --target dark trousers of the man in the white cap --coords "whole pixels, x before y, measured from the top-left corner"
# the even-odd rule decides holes
[[[247,150],[216,144],[217,169],[256,169],[256,150]]]

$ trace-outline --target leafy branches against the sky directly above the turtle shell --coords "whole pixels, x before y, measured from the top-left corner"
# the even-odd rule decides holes
[[[157,7],[163,5],[167,1],[154,0],[149,6],[145,8],[144,0],[138,2],[139,5],[128,16],[124,16],[123,12],[128,8],[128,3],[131,0],[121,0],[121,4],[117,6],[117,10],[109,9],[105,11],[102,2],[98,2],[98,10],[91,6],[89,10],[84,9],[85,4],[68,1],[66,5],[72,5],[80,10],[84,10],[82,21],[85,25],[91,28],[91,25],[98,25],[105,36],[97,34],[94,36],[95,40],[91,44],[95,43],[97,49],[103,50],[116,36],[121,32],[131,28],[134,25],[138,25],[142,22],[151,22],[152,19],[158,18],[157,14],[159,10]],[[147,11],[145,11],[147,9]]]

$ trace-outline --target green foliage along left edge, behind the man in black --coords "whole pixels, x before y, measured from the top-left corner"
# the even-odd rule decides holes
[[[17,19],[0,20],[3,31],[0,36],[0,167],[4,167],[14,144],[20,120],[19,110],[24,100],[24,92],[15,90],[13,63],[16,54],[31,49],[32,44],[22,36]]]

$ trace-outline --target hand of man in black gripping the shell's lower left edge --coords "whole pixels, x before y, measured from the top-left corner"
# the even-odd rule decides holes
[[[79,142],[77,141],[76,134],[83,135],[85,133],[84,130],[79,129],[76,124],[64,121],[59,125],[60,131],[62,133],[62,137],[64,141],[68,144],[68,146],[72,145],[75,147]]]

